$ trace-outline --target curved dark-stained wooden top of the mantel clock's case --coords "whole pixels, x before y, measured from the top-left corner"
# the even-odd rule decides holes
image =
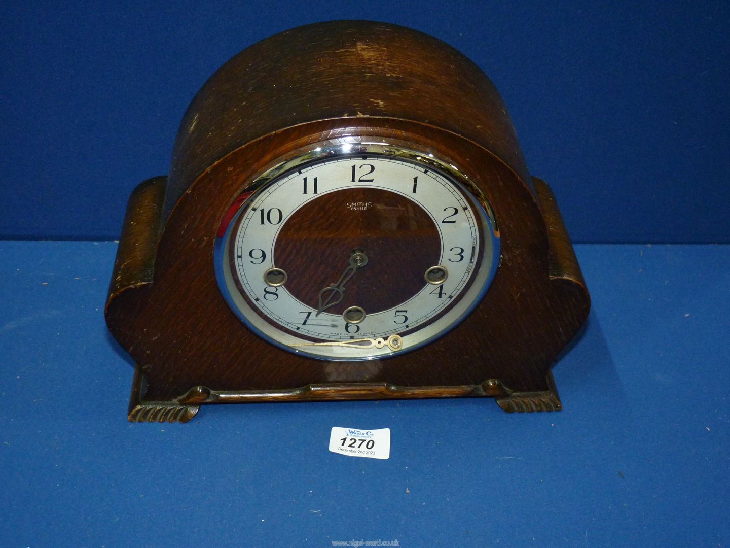
[[[418,121],[480,142],[532,184],[512,119],[469,58],[410,28],[332,21],[243,50],[210,77],[174,144],[164,216],[204,170],[241,145],[329,118]]]

